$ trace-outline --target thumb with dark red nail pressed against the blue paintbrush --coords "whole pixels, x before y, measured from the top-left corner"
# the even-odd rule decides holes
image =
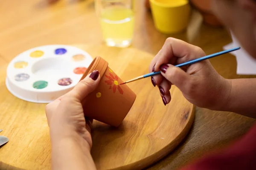
[[[171,64],[164,64],[160,66],[160,71],[163,77],[172,82],[173,85],[176,85],[180,91],[186,90],[186,84],[189,82],[190,76],[181,68]]]

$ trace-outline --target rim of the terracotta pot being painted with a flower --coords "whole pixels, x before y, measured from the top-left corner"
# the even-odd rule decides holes
[[[104,62],[103,63],[103,67],[101,68],[101,70],[99,71],[100,76],[102,76],[106,69],[108,68],[108,62],[103,59],[102,57],[96,56],[93,61],[90,63],[89,67],[87,68],[87,70],[84,72],[83,76],[81,77],[80,81],[82,79],[84,79],[84,77],[86,77],[88,74],[90,74],[91,72],[93,72],[94,70],[96,70],[97,65],[99,64],[99,62]]]

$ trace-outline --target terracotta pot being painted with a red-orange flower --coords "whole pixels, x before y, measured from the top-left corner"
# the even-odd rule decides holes
[[[130,111],[136,94],[108,67],[102,57],[96,57],[81,77],[84,79],[94,70],[101,77],[98,87],[83,103],[84,116],[111,126],[119,126]]]

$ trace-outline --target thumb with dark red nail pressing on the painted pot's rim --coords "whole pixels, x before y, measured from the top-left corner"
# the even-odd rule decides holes
[[[70,91],[70,95],[74,95],[80,102],[91,92],[93,92],[99,84],[99,71],[95,70],[88,74]]]

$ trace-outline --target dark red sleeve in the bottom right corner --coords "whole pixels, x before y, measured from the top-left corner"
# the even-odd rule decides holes
[[[256,170],[256,125],[230,147],[181,170]]]

